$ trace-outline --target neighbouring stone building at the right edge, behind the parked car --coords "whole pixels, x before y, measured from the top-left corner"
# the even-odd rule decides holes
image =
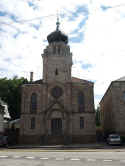
[[[104,134],[125,136],[125,79],[113,81],[100,102],[101,125]]]

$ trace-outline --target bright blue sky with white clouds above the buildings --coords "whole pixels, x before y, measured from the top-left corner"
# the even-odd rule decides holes
[[[125,76],[124,0],[0,0],[0,78],[42,78],[47,35],[69,37],[72,76],[94,82],[95,107],[111,81]]]

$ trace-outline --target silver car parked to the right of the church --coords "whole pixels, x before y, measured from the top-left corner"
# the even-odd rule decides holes
[[[109,145],[120,145],[122,143],[121,137],[118,134],[110,134],[107,138]]]

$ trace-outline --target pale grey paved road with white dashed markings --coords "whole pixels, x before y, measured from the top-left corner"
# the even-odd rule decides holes
[[[0,150],[0,166],[125,166],[125,150],[62,151]]]

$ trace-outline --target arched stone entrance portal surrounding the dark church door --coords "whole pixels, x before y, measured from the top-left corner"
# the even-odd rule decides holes
[[[47,144],[64,144],[70,129],[69,113],[62,109],[48,110],[45,119],[45,141]]]

